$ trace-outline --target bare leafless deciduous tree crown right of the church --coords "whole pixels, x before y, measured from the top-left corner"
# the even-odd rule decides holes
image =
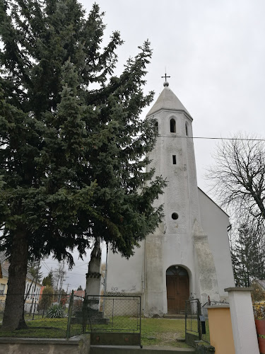
[[[222,206],[235,214],[249,215],[257,223],[265,219],[265,144],[255,137],[237,135],[223,140],[208,169],[213,191]]]

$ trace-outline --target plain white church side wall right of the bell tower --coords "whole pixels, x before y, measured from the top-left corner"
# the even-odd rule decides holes
[[[208,244],[213,253],[220,299],[227,300],[228,293],[224,291],[224,288],[235,286],[227,231],[230,224],[229,217],[208,195],[202,190],[198,190],[201,225],[208,235]]]

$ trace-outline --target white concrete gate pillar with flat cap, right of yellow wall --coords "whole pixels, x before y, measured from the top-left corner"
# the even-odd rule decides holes
[[[259,354],[250,292],[252,287],[228,287],[235,354]]]

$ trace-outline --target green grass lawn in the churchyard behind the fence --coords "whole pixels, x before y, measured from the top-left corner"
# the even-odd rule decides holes
[[[65,338],[67,318],[64,319],[35,319],[27,320],[28,329],[19,331],[1,331],[0,336],[6,337],[28,337],[28,338]],[[108,325],[91,325],[93,331],[113,331],[118,329],[126,331],[139,331],[139,319],[133,317],[114,317]],[[90,331],[90,327],[87,327]],[[71,336],[82,333],[81,324],[71,325]],[[186,343],[181,341],[185,336],[184,319],[142,319],[141,320],[141,341],[143,346],[172,346],[187,348]]]

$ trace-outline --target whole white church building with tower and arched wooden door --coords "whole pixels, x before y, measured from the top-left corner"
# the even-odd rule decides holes
[[[141,295],[143,313],[181,314],[185,300],[202,304],[228,299],[234,287],[228,242],[228,215],[197,186],[192,117],[167,81],[146,119],[157,121],[158,137],[150,154],[155,176],[167,187],[157,201],[165,217],[126,260],[109,253],[107,293]]]

